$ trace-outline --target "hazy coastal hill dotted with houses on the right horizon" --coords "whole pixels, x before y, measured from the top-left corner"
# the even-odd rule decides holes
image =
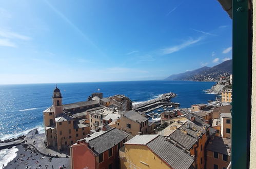
[[[232,74],[232,59],[226,60],[212,68],[202,67],[180,74],[173,74],[165,80],[217,81],[220,77],[227,77],[230,74]]]

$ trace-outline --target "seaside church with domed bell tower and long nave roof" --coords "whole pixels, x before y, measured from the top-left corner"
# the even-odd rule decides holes
[[[100,104],[95,100],[62,104],[62,94],[57,87],[52,101],[53,105],[43,112],[46,145],[61,151],[90,133],[87,110]]]

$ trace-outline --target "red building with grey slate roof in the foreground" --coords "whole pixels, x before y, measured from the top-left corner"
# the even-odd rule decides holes
[[[96,132],[70,146],[71,168],[120,168],[119,149],[128,135],[116,128]]]

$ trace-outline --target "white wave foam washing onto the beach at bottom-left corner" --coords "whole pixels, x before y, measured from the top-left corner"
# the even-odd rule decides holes
[[[16,146],[11,147],[11,149],[0,150],[0,166],[3,164],[6,166],[10,161],[12,161],[16,156],[18,149]]]

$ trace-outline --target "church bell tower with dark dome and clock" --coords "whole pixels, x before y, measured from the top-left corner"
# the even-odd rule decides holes
[[[60,89],[57,88],[57,85],[53,91],[52,101],[54,108],[54,116],[57,117],[58,115],[63,113],[62,94]]]

